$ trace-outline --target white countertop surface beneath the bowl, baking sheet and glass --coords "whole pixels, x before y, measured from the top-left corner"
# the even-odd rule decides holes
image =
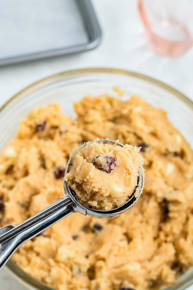
[[[179,58],[157,55],[148,48],[137,0],[93,0],[101,24],[100,46],[88,52],[0,67],[0,106],[28,84],[64,70],[114,67],[157,78],[193,100],[193,49]],[[24,290],[5,269],[0,289]],[[193,290],[193,287],[188,288]]]

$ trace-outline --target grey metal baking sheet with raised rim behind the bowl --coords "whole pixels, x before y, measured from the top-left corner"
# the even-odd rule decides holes
[[[1,0],[0,65],[95,48],[101,30],[90,0]]]

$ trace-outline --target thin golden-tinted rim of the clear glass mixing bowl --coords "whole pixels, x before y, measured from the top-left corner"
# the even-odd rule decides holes
[[[49,81],[52,81],[54,79],[57,79],[58,77],[73,77],[75,75],[83,75],[88,73],[111,73],[111,74],[119,74],[119,75],[128,75],[131,77],[135,77],[137,79],[142,79],[144,81],[150,82],[152,84],[157,85],[158,87],[161,87],[165,90],[167,90],[169,93],[172,93],[175,97],[183,101],[185,104],[187,104],[192,110],[193,110],[193,101],[191,101],[188,97],[186,97],[183,93],[181,93],[179,90],[176,90],[172,86],[169,86],[168,84],[163,83],[162,81],[159,81],[155,78],[152,78],[150,76],[140,74],[134,71],[130,70],[124,70],[124,69],[118,69],[118,68],[82,68],[82,69],[75,69],[75,70],[67,70],[60,73],[56,73],[53,75],[50,75],[48,77],[42,78],[38,81],[35,81],[34,83],[26,86],[22,90],[20,90],[18,93],[13,95],[8,101],[6,101],[1,107],[0,107],[0,113],[3,111],[3,109],[8,106],[13,100],[15,100],[17,97],[21,96],[22,94],[26,94],[30,92],[31,90],[35,89],[39,85],[43,83],[49,84]],[[24,284],[25,286],[30,287],[31,289],[37,289],[37,290],[55,290],[52,287],[47,286],[43,282],[37,280],[36,278],[32,277],[25,271],[23,271],[13,260],[9,260],[6,264],[6,268],[9,272],[12,273],[12,275],[19,280],[20,283]],[[183,282],[183,281],[182,281]],[[193,284],[193,277],[188,280],[185,285],[179,285],[179,288],[176,288],[175,285],[177,283],[171,285],[166,290],[184,290],[190,285]]]

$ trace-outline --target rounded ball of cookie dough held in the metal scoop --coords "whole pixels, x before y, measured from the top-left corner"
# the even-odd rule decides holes
[[[135,192],[143,164],[139,150],[99,139],[87,142],[72,151],[65,180],[82,205],[104,211],[119,207]]]

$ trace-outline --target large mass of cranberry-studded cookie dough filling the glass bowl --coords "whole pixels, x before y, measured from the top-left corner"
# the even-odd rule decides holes
[[[193,151],[166,113],[142,98],[84,97],[77,118],[36,108],[0,156],[0,226],[17,224],[63,194],[69,154],[99,137],[141,147],[143,194],[113,219],[69,215],[12,259],[57,290],[147,290],[193,265]],[[59,168],[58,168],[59,167]]]

